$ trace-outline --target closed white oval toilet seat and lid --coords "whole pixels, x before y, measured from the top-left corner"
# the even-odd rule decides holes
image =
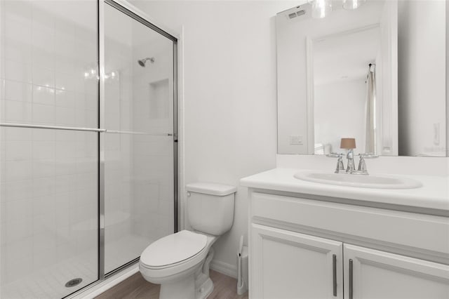
[[[173,267],[195,258],[206,244],[205,235],[182,230],[150,244],[140,255],[140,263],[149,269]]]

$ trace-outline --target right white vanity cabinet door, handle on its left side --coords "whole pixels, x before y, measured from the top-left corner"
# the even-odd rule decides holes
[[[344,298],[449,298],[449,265],[348,244],[343,254]]]

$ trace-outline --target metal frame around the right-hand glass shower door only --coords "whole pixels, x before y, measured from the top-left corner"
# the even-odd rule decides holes
[[[173,42],[173,133],[163,133],[156,135],[171,135],[173,136],[173,197],[174,197],[174,232],[179,230],[178,223],[178,188],[177,188],[177,34],[170,33],[169,29],[163,28],[160,25],[155,25],[144,12],[138,10],[134,6],[130,5],[127,1],[122,0],[99,0],[98,1],[98,69],[100,74],[99,82],[99,124],[98,128],[105,128],[105,5],[116,8],[121,13],[128,15],[128,17],[137,20],[142,25],[149,27],[157,33],[165,36],[167,39]],[[105,273],[105,130],[98,134],[99,144],[99,160],[98,160],[98,279],[103,281],[105,278],[123,270],[124,268],[133,265],[138,262],[140,257],[130,260],[130,262],[121,265],[121,267]],[[110,133],[125,133],[120,131],[114,131]],[[126,132],[132,133],[132,132]]]

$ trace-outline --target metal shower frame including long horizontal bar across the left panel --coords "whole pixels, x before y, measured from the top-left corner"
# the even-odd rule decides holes
[[[170,32],[170,29],[163,28],[161,25],[156,25],[156,22],[152,21],[144,12],[138,10],[134,6],[130,5],[127,1],[123,0],[98,0],[98,126],[97,128],[83,128],[83,127],[71,127],[71,126],[46,126],[39,124],[15,124],[9,122],[0,122],[0,127],[16,127],[16,128],[41,128],[41,129],[59,129],[66,131],[91,131],[98,133],[98,280],[93,281],[91,284],[84,286],[78,291],[69,293],[64,298],[77,297],[88,289],[91,289],[98,284],[105,281],[105,278],[112,276],[116,272],[123,270],[124,268],[138,262],[139,258],[130,260],[130,262],[121,265],[112,272],[105,274],[105,133],[128,133],[128,134],[141,134],[141,132],[130,131],[107,131],[105,128],[105,5],[110,5],[121,13],[125,13],[130,18],[137,20],[149,27],[159,34],[165,36],[173,42],[173,132],[172,133],[159,133],[150,135],[165,135],[172,136],[173,138],[173,200],[174,200],[174,232],[179,230],[179,192],[178,192],[178,121],[177,121],[177,45],[178,37],[174,32]]]

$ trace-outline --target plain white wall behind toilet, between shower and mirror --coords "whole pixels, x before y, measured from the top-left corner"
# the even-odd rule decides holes
[[[276,39],[283,1],[133,1],[154,20],[184,30],[185,182],[239,185],[276,166]],[[235,275],[247,234],[246,188],[234,226],[215,244],[213,265]],[[185,194],[181,194],[185,201]],[[187,222],[187,221],[186,221]],[[186,227],[189,225],[186,223]],[[245,238],[245,242],[247,242]]]

